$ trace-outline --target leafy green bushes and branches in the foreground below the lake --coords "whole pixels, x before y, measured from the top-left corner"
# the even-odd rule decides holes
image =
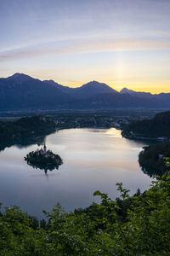
[[[130,197],[118,183],[121,198],[112,201],[96,191],[101,204],[65,212],[56,205],[38,224],[19,207],[0,217],[0,254],[167,255],[170,253],[170,175]]]

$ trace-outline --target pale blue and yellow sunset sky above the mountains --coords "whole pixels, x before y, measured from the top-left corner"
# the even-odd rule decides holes
[[[170,92],[170,0],[0,0],[0,77]]]

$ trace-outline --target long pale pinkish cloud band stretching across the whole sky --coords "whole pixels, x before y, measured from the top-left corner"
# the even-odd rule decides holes
[[[133,39],[116,39],[116,40],[93,40],[78,44],[65,44],[65,46],[26,49],[14,49],[0,53],[0,62],[18,61],[22,59],[35,59],[50,55],[74,55],[87,54],[93,52],[111,52],[111,51],[132,51],[132,50],[153,50],[153,49],[170,49],[170,43],[161,40],[133,40]]]

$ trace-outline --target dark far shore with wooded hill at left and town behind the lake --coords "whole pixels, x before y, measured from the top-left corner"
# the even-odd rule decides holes
[[[8,114],[8,113],[6,113]],[[23,113],[20,113],[22,116]],[[25,113],[25,114],[35,114]],[[37,114],[31,117],[16,119],[2,118],[0,120],[0,150],[15,144],[30,145],[42,143],[42,136],[46,136],[56,129],[70,128],[111,128],[121,129],[124,124],[141,116],[150,117],[150,111],[84,111],[84,112],[50,112],[48,117]],[[16,113],[17,116],[17,113]]]

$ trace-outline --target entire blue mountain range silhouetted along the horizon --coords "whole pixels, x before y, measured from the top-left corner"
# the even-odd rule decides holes
[[[0,99],[0,111],[170,108],[170,93],[153,95],[127,88],[118,92],[97,81],[71,88],[23,73],[0,79]]]

